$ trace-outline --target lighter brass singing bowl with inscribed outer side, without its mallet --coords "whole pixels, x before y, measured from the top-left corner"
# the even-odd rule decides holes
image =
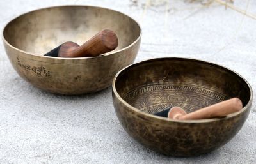
[[[83,44],[102,29],[118,36],[118,47],[98,57],[43,56],[65,41]],[[31,84],[58,94],[92,93],[111,86],[115,74],[134,62],[141,28],[131,17],[94,6],[56,6],[20,15],[3,31],[13,68]]]

